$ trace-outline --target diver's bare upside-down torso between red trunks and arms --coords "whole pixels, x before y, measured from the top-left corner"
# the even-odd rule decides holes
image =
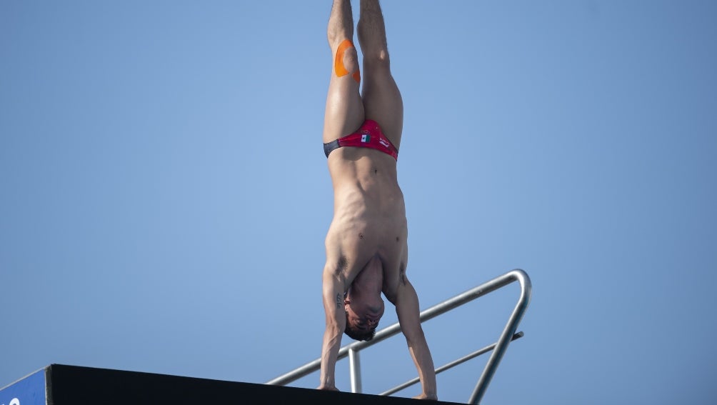
[[[368,148],[338,148],[328,157],[334,214],[326,236],[328,263],[336,263],[346,288],[378,257],[382,292],[393,302],[408,259],[407,221],[396,161]]]

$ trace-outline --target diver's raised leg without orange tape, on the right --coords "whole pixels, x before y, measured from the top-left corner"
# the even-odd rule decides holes
[[[391,76],[386,27],[379,0],[361,0],[359,43],[364,53],[364,108],[399,148],[403,130],[403,100]]]

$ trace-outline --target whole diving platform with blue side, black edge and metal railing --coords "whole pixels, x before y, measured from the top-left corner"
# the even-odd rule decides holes
[[[467,404],[480,404],[480,400],[488,388],[488,383],[493,378],[508,345],[511,341],[523,337],[523,332],[518,332],[516,328],[518,328],[518,323],[521,322],[531,300],[530,278],[523,270],[511,270],[423,310],[419,314],[419,319],[424,322],[512,282],[518,282],[521,285],[521,292],[498,341],[435,369],[436,373],[441,373],[484,353],[492,352]],[[359,351],[399,333],[400,330],[399,323],[394,323],[377,331],[371,341],[353,342],[339,349],[339,359],[348,357],[352,392],[320,391],[287,386],[288,383],[296,381],[298,378],[318,371],[320,358],[267,381],[267,383],[218,381],[206,378],[52,364],[0,389],[0,405],[426,404],[426,401],[418,399],[390,396],[408,386],[419,383],[419,378],[413,378],[379,395],[361,394]],[[445,401],[431,401],[430,403],[457,404]]]

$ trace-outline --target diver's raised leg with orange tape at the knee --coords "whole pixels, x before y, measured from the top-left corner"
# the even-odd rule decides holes
[[[326,97],[323,142],[331,142],[359,129],[364,123],[364,104],[359,95],[359,54],[353,44],[351,1],[334,0],[328,20],[331,47],[331,82]]]

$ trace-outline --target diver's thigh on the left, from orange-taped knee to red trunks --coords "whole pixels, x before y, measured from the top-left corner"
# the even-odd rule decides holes
[[[323,120],[323,142],[328,143],[336,138],[353,133],[364,123],[364,104],[359,95],[359,83],[353,73],[359,71],[359,57],[356,48],[348,48],[339,55],[338,44],[333,44],[331,54],[331,82],[326,96],[326,112]],[[348,74],[338,76],[335,65],[341,62]]]

